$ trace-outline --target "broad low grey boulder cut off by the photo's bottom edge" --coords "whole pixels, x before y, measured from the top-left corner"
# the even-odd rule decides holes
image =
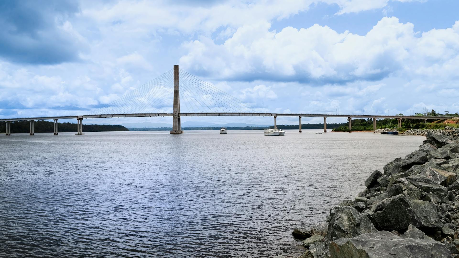
[[[331,258],[452,258],[448,248],[432,239],[395,236],[388,231],[330,242]]]

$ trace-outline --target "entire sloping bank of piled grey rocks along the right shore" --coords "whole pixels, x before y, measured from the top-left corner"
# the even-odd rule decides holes
[[[373,172],[325,222],[293,230],[298,258],[459,258],[459,129],[408,131],[425,133],[418,151]]]

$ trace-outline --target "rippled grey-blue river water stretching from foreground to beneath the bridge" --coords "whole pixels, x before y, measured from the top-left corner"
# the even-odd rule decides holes
[[[0,257],[297,257],[422,136],[287,130],[0,136]]]

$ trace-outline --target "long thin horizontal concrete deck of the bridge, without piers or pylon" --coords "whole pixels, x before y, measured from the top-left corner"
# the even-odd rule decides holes
[[[76,118],[130,118],[130,117],[172,117],[172,113],[132,113],[132,114],[100,114],[82,116],[55,116],[34,118],[1,118],[6,121],[76,119]],[[211,117],[211,116],[237,116],[237,117],[327,117],[327,118],[412,118],[412,119],[449,119],[451,116],[385,116],[385,115],[358,115],[358,114],[299,114],[299,113],[180,113],[181,117]]]

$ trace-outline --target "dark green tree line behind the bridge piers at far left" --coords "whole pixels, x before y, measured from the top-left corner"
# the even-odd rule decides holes
[[[4,122],[0,123],[0,132],[5,132]],[[58,123],[57,129],[59,133],[64,132],[76,132],[77,124],[76,123]],[[34,132],[35,133],[52,133],[53,122],[49,121],[35,121],[34,123]],[[122,125],[98,125],[98,124],[83,124],[84,132],[118,132],[118,131],[129,131],[126,127]],[[11,122],[11,133],[29,133],[29,122],[28,121],[13,121]]]

